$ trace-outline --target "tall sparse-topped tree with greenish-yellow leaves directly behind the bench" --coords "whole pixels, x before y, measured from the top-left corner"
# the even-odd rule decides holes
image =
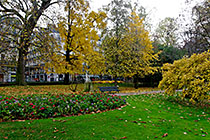
[[[103,7],[107,14],[107,29],[105,30],[105,38],[103,40],[103,49],[105,50],[108,66],[108,73],[111,74],[117,83],[117,77],[121,76],[121,66],[118,50],[121,50],[120,40],[126,32],[129,22],[129,14],[132,6],[130,1],[112,0],[108,5]]]

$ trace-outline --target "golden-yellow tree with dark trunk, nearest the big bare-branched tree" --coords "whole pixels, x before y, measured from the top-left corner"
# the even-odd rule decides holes
[[[65,73],[64,82],[68,84],[70,74],[82,73],[87,68],[90,73],[97,74],[103,69],[103,56],[97,41],[100,39],[98,31],[106,26],[103,22],[106,14],[90,11],[87,0],[67,0],[64,11],[66,15],[59,17],[56,28],[62,44],[53,46],[46,68]]]

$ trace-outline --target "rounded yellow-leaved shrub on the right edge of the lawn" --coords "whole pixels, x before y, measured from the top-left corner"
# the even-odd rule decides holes
[[[162,70],[163,79],[159,88],[165,89],[167,94],[173,95],[175,90],[182,89],[182,98],[190,98],[190,101],[210,99],[209,51],[165,64]]]

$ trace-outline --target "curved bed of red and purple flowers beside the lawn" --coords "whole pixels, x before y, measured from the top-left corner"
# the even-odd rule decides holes
[[[102,93],[88,94],[33,94],[0,96],[0,120],[52,118],[100,112],[126,104],[126,100]]]

